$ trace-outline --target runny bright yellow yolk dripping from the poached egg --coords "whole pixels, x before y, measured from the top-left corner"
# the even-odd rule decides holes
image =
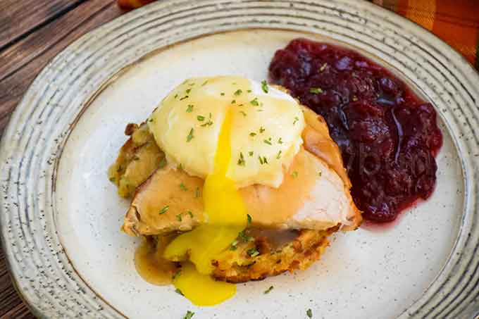
[[[210,274],[211,261],[237,238],[247,225],[247,210],[235,182],[226,177],[231,161],[232,115],[228,111],[220,130],[213,173],[206,177],[203,200],[206,223],[173,239],[164,257],[182,263],[173,284],[197,306],[213,306],[236,293],[235,284],[218,282]],[[194,265],[193,265],[194,264]]]

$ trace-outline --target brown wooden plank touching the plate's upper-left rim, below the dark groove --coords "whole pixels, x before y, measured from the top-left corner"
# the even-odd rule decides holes
[[[9,56],[22,58],[15,59],[15,65],[9,64],[15,72],[0,82],[0,136],[13,108],[44,65],[70,42],[121,13],[123,11],[116,6],[115,0],[87,1],[22,39],[15,44],[15,52],[8,51]],[[0,65],[3,63],[7,61],[2,53]]]

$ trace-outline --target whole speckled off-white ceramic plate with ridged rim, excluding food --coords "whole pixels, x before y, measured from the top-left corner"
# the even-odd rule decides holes
[[[0,153],[0,220],[13,280],[45,318],[473,318],[479,312],[479,76],[449,46],[358,1],[160,1],[82,37],[28,90]],[[220,33],[222,32],[222,33]],[[144,282],[128,202],[106,170],[139,123],[187,77],[263,80],[295,37],[352,46],[431,101],[444,146],[437,188],[394,227],[336,234],[309,270],[239,284],[192,306]],[[175,45],[172,45],[175,44]],[[263,291],[273,285],[270,294]]]

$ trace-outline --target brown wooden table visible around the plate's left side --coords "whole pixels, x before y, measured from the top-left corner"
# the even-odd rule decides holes
[[[32,80],[86,32],[121,15],[116,0],[0,0],[0,138]],[[0,248],[0,319],[35,318],[13,288]]]

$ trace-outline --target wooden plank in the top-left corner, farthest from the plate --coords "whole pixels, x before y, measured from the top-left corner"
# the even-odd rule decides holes
[[[85,0],[1,0],[0,49]]]

